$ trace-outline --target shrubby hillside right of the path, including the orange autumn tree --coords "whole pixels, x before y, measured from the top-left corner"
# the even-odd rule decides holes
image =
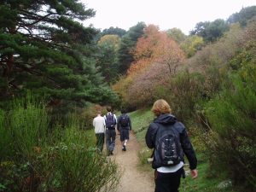
[[[199,22],[189,36],[145,26],[131,49],[131,67],[113,84],[131,109],[151,107],[158,98],[171,103],[199,139],[208,174],[225,172],[237,191],[256,190],[255,10]]]

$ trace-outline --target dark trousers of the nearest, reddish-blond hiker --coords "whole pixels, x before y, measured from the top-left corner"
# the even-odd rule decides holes
[[[154,192],[178,192],[180,185],[180,178],[182,176],[183,168],[177,172],[154,172],[155,189]]]

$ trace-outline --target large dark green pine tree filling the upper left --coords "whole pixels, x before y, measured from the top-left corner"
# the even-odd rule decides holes
[[[78,0],[5,0],[0,12],[1,97],[36,90],[54,99],[109,102],[113,93],[91,57],[97,31],[81,24],[93,9]]]

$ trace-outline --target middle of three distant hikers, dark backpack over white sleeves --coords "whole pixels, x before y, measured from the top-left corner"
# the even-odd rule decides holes
[[[112,113],[111,107],[107,107],[108,113],[104,116],[106,125],[106,147],[107,155],[113,154],[115,146],[115,125],[117,123],[116,115]]]

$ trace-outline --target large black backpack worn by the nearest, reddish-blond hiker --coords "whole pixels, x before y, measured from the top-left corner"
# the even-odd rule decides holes
[[[179,142],[179,134],[173,125],[158,124],[155,137],[154,167],[175,166],[183,160],[183,150]]]

